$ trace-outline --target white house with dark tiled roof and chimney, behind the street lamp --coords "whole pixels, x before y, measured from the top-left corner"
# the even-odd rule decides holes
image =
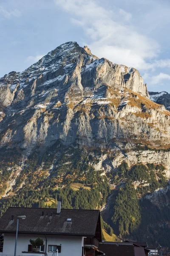
[[[14,255],[17,217],[19,218],[16,255],[23,256],[97,256],[102,241],[98,210],[10,207],[0,218],[0,233],[4,234],[3,252]],[[43,239],[40,252],[33,251],[29,240]],[[57,252],[58,249],[58,252]]]

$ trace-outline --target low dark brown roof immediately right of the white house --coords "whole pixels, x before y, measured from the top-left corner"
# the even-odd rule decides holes
[[[134,246],[132,244],[116,244],[100,243],[99,250],[104,252],[106,256],[135,256]]]

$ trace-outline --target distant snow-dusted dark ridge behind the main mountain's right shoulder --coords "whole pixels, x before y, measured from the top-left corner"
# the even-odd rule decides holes
[[[162,92],[149,92],[150,99],[153,102],[164,105],[164,107],[170,111],[170,94],[162,91]]]

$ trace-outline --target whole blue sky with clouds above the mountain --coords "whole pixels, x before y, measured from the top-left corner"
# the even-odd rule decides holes
[[[169,28],[169,0],[0,0],[0,77],[77,41],[170,93]]]

